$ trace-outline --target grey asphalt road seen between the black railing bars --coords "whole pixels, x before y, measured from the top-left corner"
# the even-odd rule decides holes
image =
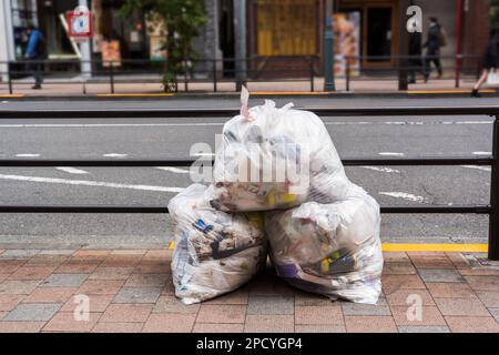
[[[289,100],[276,100],[277,104]],[[492,104],[497,99],[293,99],[298,106]],[[262,100],[254,100],[253,104]],[[118,102],[2,102],[0,110],[93,108],[236,108],[237,99]],[[342,158],[480,155],[491,150],[489,116],[323,118]],[[227,118],[0,121],[0,159],[187,158],[192,144],[214,145]],[[68,168],[68,166],[67,166]],[[167,204],[185,169],[0,168],[0,204]],[[70,168],[70,166],[69,166]],[[380,204],[486,204],[488,166],[348,168]],[[482,243],[479,215],[384,215],[384,241]],[[0,215],[0,247],[157,247],[172,235],[167,215]]]

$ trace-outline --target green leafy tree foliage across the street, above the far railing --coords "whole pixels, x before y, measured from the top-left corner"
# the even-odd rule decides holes
[[[203,0],[125,0],[121,8],[123,17],[142,11],[147,21],[161,28],[167,60],[164,67],[163,84],[165,91],[175,91],[177,75],[186,74],[186,62],[196,57],[192,39],[200,34],[206,23]]]

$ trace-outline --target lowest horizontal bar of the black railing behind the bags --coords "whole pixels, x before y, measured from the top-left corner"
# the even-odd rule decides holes
[[[385,205],[381,213],[388,214],[490,214],[490,205]],[[161,205],[0,205],[0,213],[169,213]]]

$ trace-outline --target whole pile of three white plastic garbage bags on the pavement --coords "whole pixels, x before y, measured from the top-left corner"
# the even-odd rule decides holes
[[[272,101],[223,128],[213,182],[169,204],[175,294],[201,302],[236,290],[266,263],[302,290],[358,303],[381,292],[379,205],[352,183],[322,120]],[[263,217],[263,214],[264,217]]]

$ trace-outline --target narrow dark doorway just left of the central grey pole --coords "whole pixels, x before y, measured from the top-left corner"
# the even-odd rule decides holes
[[[234,40],[234,3],[233,0],[221,0],[220,2],[220,48],[224,59],[234,59],[235,40]],[[234,61],[223,62],[224,77],[234,77]]]

